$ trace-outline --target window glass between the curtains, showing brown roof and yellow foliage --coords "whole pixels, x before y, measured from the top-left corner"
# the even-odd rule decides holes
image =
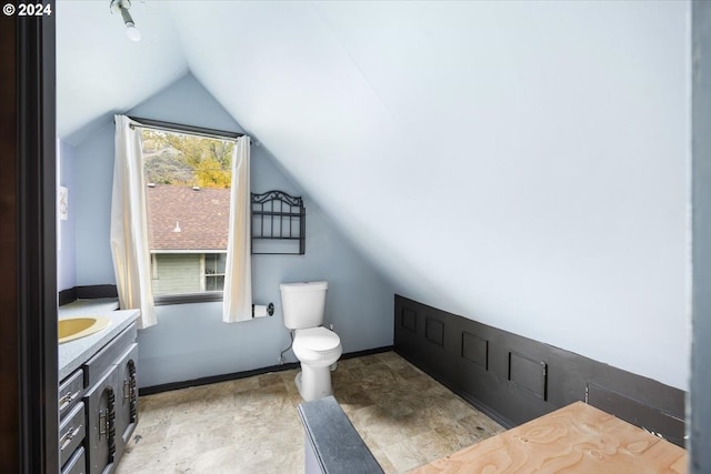
[[[219,300],[234,143],[150,129],[141,140],[156,303]]]

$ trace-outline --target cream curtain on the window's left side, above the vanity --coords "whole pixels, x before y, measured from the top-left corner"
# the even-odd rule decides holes
[[[114,115],[116,158],[111,196],[111,255],[119,305],[141,310],[139,327],[156,324],[146,218],[146,184],[138,125]]]

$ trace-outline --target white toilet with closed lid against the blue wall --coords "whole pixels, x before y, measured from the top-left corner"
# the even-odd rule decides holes
[[[293,353],[301,362],[297,389],[307,402],[333,394],[331,366],[343,353],[338,334],[323,324],[328,282],[282,283],[284,325],[294,332]]]

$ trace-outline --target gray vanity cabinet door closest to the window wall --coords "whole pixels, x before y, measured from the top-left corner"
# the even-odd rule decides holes
[[[137,363],[138,344],[131,344],[117,363],[118,380],[121,384],[121,390],[117,393],[116,400],[117,457],[121,457],[138,423]]]

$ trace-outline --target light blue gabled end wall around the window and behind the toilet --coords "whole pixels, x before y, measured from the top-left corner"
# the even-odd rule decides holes
[[[241,127],[192,77],[187,75],[128,114],[219,130]],[[280,170],[263,147],[252,147],[252,191],[303,191]],[[113,124],[77,148],[77,284],[114,283],[109,249],[113,170]],[[327,280],[327,323],[333,324],[344,352],[392,344],[392,285],[354,251],[303,195],[307,206],[306,255],[254,255],[253,297],[273,302],[272,317],[226,324],[221,303],[158,306],[159,324],[139,331],[139,384],[151,386],[277,364],[289,344],[279,283]],[[296,361],[287,354],[288,361]]]

